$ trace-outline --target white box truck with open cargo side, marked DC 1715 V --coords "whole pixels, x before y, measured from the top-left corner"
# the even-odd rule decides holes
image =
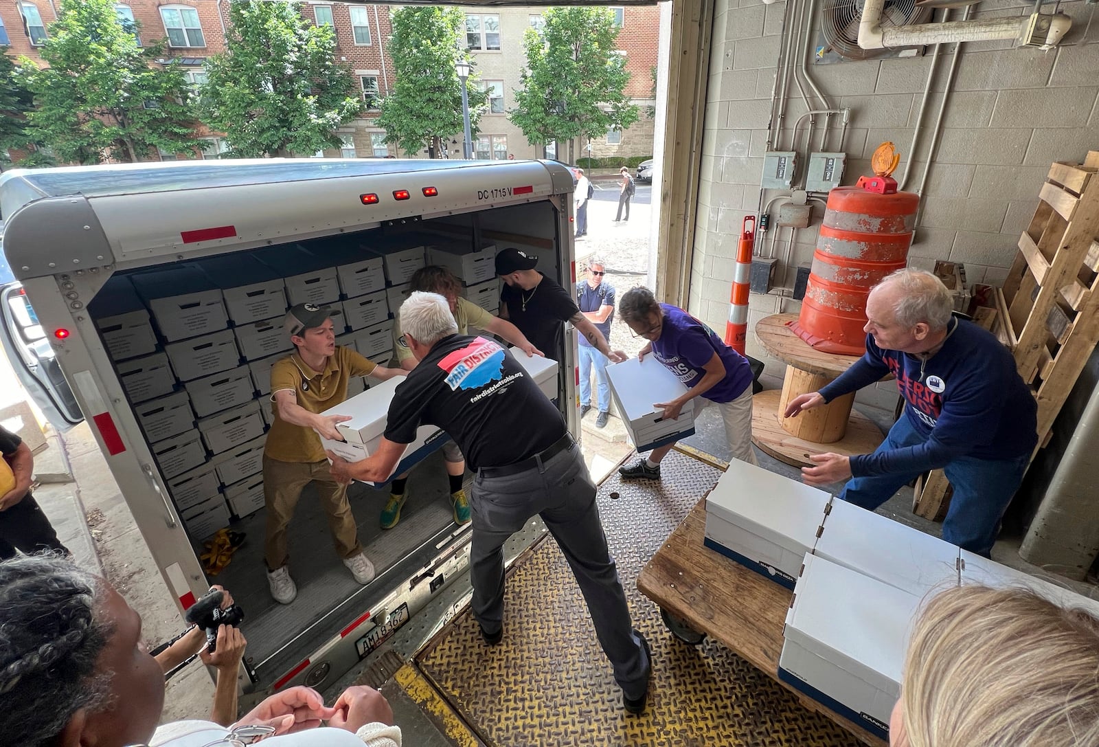
[[[470,252],[488,243],[535,251],[543,259],[540,266],[554,267],[554,279],[568,286],[575,281],[571,191],[567,168],[539,161],[179,162],[0,176],[3,249],[36,312],[33,321],[41,326],[34,344],[42,348],[47,341],[45,350],[64,373],[58,382],[57,376],[35,378],[24,371],[23,381],[34,380],[46,389],[67,381],[180,612],[210,586],[199,560],[208,535],[226,521],[246,535],[217,582],[231,589],[246,612],[243,629],[255,679],[251,690],[257,695],[300,683],[324,688],[354,668],[462,575],[469,530],[453,523],[445,472],[431,460],[412,474],[410,486],[418,497],[410,498],[401,523],[385,532],[378,516],[388,493],[353,485],[359,539],[378,570],[373,583],[359,586],[336,557],[323,512],[307,488],[290,526],[298,597],[290,605],[275,603],[264,578],[266,512],[254,510],[255,476],[237,469],[232,474],[236,482],[223,483],[226,460],[262,438],[266,420],[256,415],[255,402],[269,397],[270,389],[262,375],[256,377],[256,362],[248,360],[259,351],[238,349],[247,325],[264,320],[254,315],[238,319],[234,309],[248,293],[264,292],[262,308],[277,323],[285,306],[269,306],[268,285],[278,290],[281,279],[288,298],[300,295],[359,254],[364,272],[380,274],[370,282],[330,284],[338,293],[326,300],[338,307],[349,300],[349,287],[391,289],[408,278],[400,272],[385,275],[385,259],[406,261],[389,263],[398,270],[408,265],[410,250],[426,251],[425,234]],[[295,256],[308,256],[308,266],[297,267]],[[325,257],[331,257],[330,273]],[[230,265],[241,268],[232,277],[225,271]],[[235,276],[248,266],[260,268],[255,277]],[[271,274],[274,267],[280,272]],[[197,289],[202,297],[171,296],[176,274],[186,281],[178,288]],[[133,287],[144,294],[138,296],[153,327],[143,334],[155,339],[154,351],[136,347],[132,358],[119,360],[125,350],[103,325],[103,317],[113,321],[118,316],[119,305],[104,295],[112,278],[129,281],[115,279],[114,286],[130,289],[125,300],[131,305]],[[200,308],[193,304],[221,309],[219,294],[230,314],[210,315],[193,329],[182,323]],[[171,304],[179,308],[173,310]],[[12,327],[14,322],[4,328],[5,342],[25,342],[26,329]],[[571,330],[566,340],[565,350],[546,353],[562,361],[557,402],[579,438]],[[181,355],[180,350],[191,352]],[[149,372],[156,374],[155,385]],[[134,377],[147,373],[149,382],[143,378],[137,386]],[[207,382],[226,382],[232,396],[209,392],[200,400]],[[188,397],[199,405],[191,427],[180,432],[176,422],[171,428],[148,426],[149,413],[162,409],[153,399],[163,398],[167,408]],[[182,407],[178,413],[190,417]],[[235,425],[240,432],[230,433]],[[256,470],[258,460],[247,464],[248,471]]]

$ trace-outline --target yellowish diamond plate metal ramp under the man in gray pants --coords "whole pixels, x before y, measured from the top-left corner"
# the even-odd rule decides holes
[[[693,648],[667,633],[659,609],[637,591],[636,578],[720,472],[675,451],[660,470],[658,484],[624,483],[614,474],[599,491],[634,625],[653,647],[644,715],[622,710],[584,598],[548,536],[517,560],[508,576],[503,641],[485,646],[467,609],[418,655],[417,668],[490,747],[856,745],[720,644]]]

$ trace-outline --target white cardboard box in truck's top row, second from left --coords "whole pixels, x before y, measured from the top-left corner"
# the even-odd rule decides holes
[[[229,326],[221,289],[198,267],[137,273],[130,276],[137,295],[153,310],[168,342],[207,334]]]

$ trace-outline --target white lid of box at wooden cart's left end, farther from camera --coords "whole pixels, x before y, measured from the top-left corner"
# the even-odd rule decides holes
[[[706,498],[707,515],[798,554],[812,549],[829,494],[734,459]]]

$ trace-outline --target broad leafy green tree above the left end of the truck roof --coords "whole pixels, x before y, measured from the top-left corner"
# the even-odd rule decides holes
[[[81,164],[199,146],[187,80],[175,65],[156,63],[163,40],[142,47],[137,32],[119,20],[112,0],[62,0],[42,47],[47,67],[20,61],[34,95],[27,119],[35,142]]]

